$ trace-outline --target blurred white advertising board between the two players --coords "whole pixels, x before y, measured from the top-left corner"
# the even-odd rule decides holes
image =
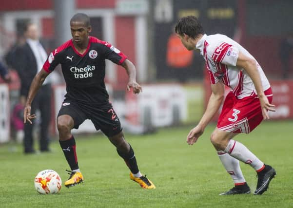
[[[143,93],[126,96],[127,119],[133,124],[163,127],[179,124],[187,117],[185,91],[179,84],[143,86]]]

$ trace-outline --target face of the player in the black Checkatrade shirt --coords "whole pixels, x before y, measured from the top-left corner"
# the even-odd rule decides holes
[[[73,21],[70,22],[70,30],[73,41],[80,45],[87,43],[89,33],[92,31],[91,26],[85,26],[83,22]]]

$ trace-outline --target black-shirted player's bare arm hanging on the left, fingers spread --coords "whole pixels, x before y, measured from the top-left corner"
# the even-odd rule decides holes
[[[31,104],[33,99],[35,98],[40,86],[45,81],[46,77],[49,75],[45,70],[41,70],[33,79],[30,90],[27,95],[26,104],[23,111],[23,122],[26,123],[26,121],[30,122],[32,124],[31,119],[36,118],[37,116],[35,114],[31,115]]]

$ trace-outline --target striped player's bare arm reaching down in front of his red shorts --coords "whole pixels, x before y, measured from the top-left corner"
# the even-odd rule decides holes
[[[203,116],[201,117],[199,123],[195,128],[193,128],[189,134],[187,135],[186,142],[189,145],[193,145],[199,136],[204,132],[204,129],[210,122],[210,120],[214,117],[215,113],[219,110],[220,105],[224,98],[224,84],[222,82],[217,82],[211,85],[212,95],[209,99],[207,109]]]

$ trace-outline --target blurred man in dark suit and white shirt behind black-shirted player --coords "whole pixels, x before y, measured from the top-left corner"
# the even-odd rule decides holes
[[[47,53],[39,41],[39,29],[34,23],[28,23],[24,29],[24,35],[27,38],[25,44],[17,49],[16,70],[20,76],[20,103],[26,102],[26,97],[33,78],[42,69],[43,63],[47,59]],[[40,151],[49,151],[48,129],[51,119],[51,81],[46,79],[40,87],[34,102],[32,103],[31,112],[40,112]],[[35,153],[33,140],[33,125],[29,123],[24,125],[24,153]]]

